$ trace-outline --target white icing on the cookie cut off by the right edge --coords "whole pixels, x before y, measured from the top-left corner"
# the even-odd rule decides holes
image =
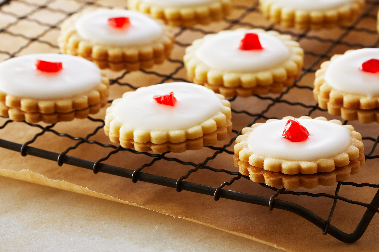
[[[379,59],[379,48],[363,48],[343,54],[330,62],[324,79],[326,83],[341,91],[360,95],[379,95],[379,73],[360,70],[362,63]]]

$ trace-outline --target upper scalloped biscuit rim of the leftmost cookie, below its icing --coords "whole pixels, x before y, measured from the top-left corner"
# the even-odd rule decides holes
[[[108,98],[109,79],[104,72],[100,83],[91,90],[73,97],[42,100],[10,95],[0,91],[0,103],[9,108],[17,108],[23,112],[39,112],[41,114],[69,113],[74,110],[85,109]]]

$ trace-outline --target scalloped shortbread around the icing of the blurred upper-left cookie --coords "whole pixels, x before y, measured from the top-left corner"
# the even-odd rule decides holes
[[[174,33],[159,19],[154,20],[162,27],[161,36],[144,45],[105,45],[80,37],[75,28],[75,21],[98,9],[104,8],[88,8],[64,20],[58,37],[58,47],[61,53],[80,56],[94,62],[100,69],[110,68],[114,71],[150,68],[153,64],[163,63],[171,55]]]

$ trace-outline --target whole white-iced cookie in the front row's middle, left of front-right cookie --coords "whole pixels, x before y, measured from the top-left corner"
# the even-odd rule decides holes
[[[172,82],[126,92],[106,110],[105,134],[137,151],[183,152],[232,131],[230,102],[205,87]]]

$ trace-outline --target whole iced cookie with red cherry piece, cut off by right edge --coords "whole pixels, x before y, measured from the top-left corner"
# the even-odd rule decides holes
[[[313,94],[318,106],[329,114],[370,123],[376,121],[379,108],[378,81],[379,48],[349,50],[321,64]]]

